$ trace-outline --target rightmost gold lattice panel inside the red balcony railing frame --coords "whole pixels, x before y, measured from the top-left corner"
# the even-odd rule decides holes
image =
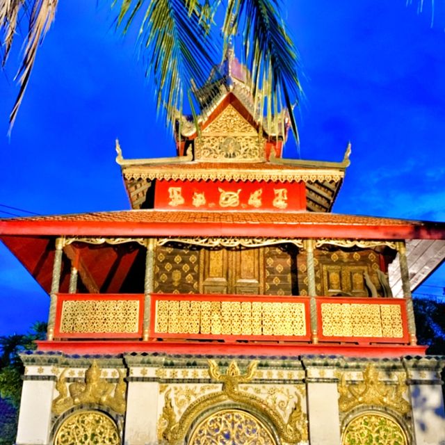
[[[403,338],[401,306],[321,303],[324,337]]]

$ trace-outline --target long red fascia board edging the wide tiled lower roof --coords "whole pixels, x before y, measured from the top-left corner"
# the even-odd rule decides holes
[[[317,223],[220,223],[127,221],[0,221],[3,235],[49,236],[270,236],[294,238],[445,239],[445,230],[424,225]]]

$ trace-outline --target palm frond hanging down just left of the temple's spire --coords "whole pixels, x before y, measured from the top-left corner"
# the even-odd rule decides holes
[[[215,60],[209,12],[197,0],[123,0],[118,26],[126,33],[140,19],[139,40],[154,80],[158,110],[172,122],[192,83],[204,83]]]

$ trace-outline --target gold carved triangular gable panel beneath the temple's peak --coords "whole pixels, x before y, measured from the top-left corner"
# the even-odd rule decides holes
[[[229,105],[195,139],[195,159],[200,161],[264,161],[264,138]]]

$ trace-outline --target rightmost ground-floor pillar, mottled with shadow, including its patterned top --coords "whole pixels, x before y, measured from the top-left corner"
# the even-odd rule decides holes
[[[445,444],[445,410],[440,375],[444,362],[432,357],[407,358],[403,362],[409,377],[415,444]]]

